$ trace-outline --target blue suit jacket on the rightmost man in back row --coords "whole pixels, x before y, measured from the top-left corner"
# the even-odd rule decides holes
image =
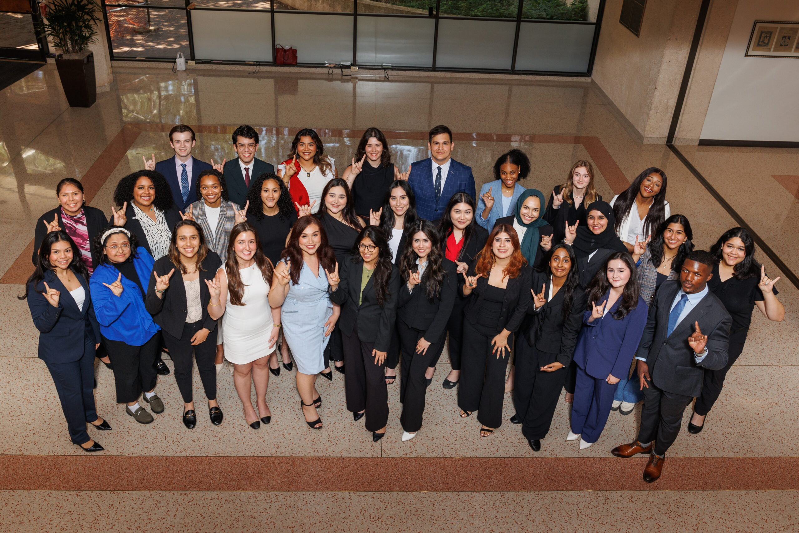
[[[471,175],[471,167],[454,159],[451,160],[449,173],[437,202],[430,157],[411,165],[411,175],[407,178],[407,182],[416,197],[416,214],[428,221],[438,221],[443,217],[447,202],[453,194],[467,193],[472,198],[475,197],[475,177]]]

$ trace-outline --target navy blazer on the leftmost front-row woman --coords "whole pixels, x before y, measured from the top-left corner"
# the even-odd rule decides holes
[[[52,218],[50,219],[53,220]],[[39,330],[39,359],[46,363],[72,363],[80,360],[84,354],[86,341],[92,344],[100,342],[100,325],[94,316],[89,282],[75,273],[85,291],[83,310],[66,289],[55,272],[47,270],[44,280],[36,288],[43,291],[46,283],[50,288],[61,292],[58,307],[50,305],[45,296],[28,285],[28,307],[34,325]]]

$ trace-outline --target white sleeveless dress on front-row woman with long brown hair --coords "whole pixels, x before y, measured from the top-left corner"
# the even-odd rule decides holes
[[[220,270],[224,273],[225,267]],[[222,334],[225,337],[225,359],[234,364],[252,363],[275,351],[269,347],[274,328],[272,308],[269,307],[269,284],[264,281],[258,265],[239,270],[244,284],[244,305],[230,303],[230,292],[222,315]]]

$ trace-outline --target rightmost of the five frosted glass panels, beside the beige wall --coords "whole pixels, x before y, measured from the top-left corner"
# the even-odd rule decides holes
[[[516,70],[588,72],[593,24],[522,22]]]

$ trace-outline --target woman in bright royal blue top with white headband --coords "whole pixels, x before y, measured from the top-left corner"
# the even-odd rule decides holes
[[[155,362],[160,347],[161,328],[145,308],[145,287],[153,272],[153,256],[121,226],[111,226],[94,240],[100,264],[94,268],[89,286],[92,304],[100,324],[103,344],[113,365],[117,384],[117,403],[125,402],[125,412],[140,424],[153,416],[138,404],[150,404],[154,413],[164,412],[164,403],[155,393]]]

